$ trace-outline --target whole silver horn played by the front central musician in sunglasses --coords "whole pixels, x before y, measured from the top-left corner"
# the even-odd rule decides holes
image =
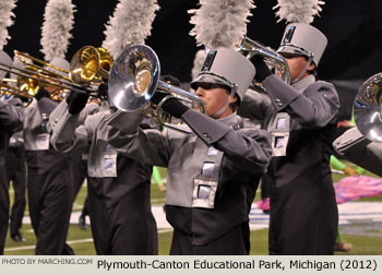
[[[160,64],[155,51],[145,45],[133,45],[122,51],[112,63],[108,82],[108,97],[118,109],[133,112],[140,110],[147,118],[153,117],[159,125],[190,133],[160,107],[170,97],[176,97],[190,108],[205,112],[204,101],[198,96],[159,80]],[[165,93],[158,105],[150,99],[155,93]]]

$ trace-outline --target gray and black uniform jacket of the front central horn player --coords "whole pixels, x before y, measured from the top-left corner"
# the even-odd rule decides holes
[[[182,118],[195,134],[142,130],[139,113],[117,111],[108,141],[119,153],[168,167],[167,220],[200,246],[248,222],[271,147],[265,131],[236,113],[216,121],[188,110]]]

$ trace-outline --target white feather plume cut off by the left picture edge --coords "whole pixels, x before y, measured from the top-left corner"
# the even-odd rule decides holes
[[[0,1],[0,50],[7,45],[11,37],[8,34],[8,27],[13,25],[14,13],[12,10],[16,7],[16,0]]]

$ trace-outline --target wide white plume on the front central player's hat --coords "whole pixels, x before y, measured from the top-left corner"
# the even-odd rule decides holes
[[[190,35],[198,46],[235,49],[247,33],[253,0],[200,0],[200,9],[189,10],[190,23],[195,26]]]

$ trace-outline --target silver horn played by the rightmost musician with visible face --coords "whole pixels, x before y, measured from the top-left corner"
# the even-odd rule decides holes
[[[254,41],[248,37],[244,37],[239,45],[238,52],[251,59],[253,56],[262,56],[264,58],[264,62],[275,69],[275,73],[280,75],[280,79],[286,83],[290,83],[290,72],[288,63],[285,59],[270,49],[267,49],[264,45]],[[254,83],[254,85],[261,85],[259,83]]]

